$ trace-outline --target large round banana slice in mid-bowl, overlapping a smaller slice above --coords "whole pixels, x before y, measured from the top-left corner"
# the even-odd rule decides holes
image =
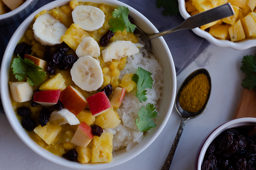
[[[80,57],[70,70],[73,82],[83,90],[97,90],[103,84],[100,63],[91,56]]]

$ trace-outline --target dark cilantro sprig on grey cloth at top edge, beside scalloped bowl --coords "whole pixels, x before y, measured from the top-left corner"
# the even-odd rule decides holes
[[[165,10],[162,12],[163,16],[169,15],[177,15],[179,12],[179,5],[177,0],[158,0],[156,2],[156,7],[161,8],[164,7]]]

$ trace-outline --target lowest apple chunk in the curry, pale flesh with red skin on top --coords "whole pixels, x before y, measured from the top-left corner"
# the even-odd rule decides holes
[[[70,142],[82,148],[86,148],[93,137],[92,128],[88,124],[82,122],[78,126],[77,131]]]

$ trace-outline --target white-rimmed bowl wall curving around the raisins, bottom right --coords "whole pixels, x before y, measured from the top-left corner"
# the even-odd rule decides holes
[[[234,120],[228,121],[226,123],[223,123],[222,125],[217,126],[202,141],[202,143],[197,151],[197,154],[196,154],[194,169],[201,170],[201,165],[203,163],[205,152],[206,152],[207,148],[210,146],[211,142],[219,134],[224,132],[226,129],[240,127],[240,126],[254,126],[254,125],[256,125],[256,118],[244,117],[244,118],[234,119]]]

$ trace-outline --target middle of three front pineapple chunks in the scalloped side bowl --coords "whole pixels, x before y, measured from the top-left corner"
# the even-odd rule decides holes
[[[238,20],[234,25],[232,25],[228,31],[232,42],[245,38],[241,20]]]

